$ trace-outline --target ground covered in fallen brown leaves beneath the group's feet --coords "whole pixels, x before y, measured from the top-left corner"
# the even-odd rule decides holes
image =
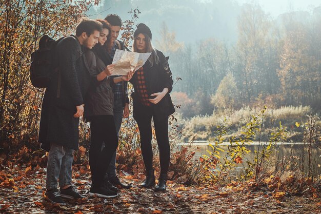
[[[88,196],[88,166],[75,165],[74,181],[88,198],[55,206],[44,198],[46,170],[42,167],[4,168],[0,171],[0,211],[4,213],[321,213],[319,198],[290,197],[264,189],[253,191],[251,182],[225,187],[189,186],[168,182],[166,192],[141,189],[142,173],[122,174],[134,185],[114,199]]]

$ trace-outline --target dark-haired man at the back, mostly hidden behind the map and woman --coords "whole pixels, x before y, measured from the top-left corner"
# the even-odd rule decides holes
[[[105,20],[110,24],[110,38],[107,41],[107,52],[109,57],[111,58],[111,61],[114,57],[114,54],[117,49],[125,50],[124,43],[117,40],[117,37],[119,35],[119,31],[122,28],[122,19],[116,14],[109,14],[106,16]],[[121,129],[123,117],[128,118],[129,116],[129,99],[128,99],[128,92],[127,92],[127,82],[119,82],[116,83],[113,86],[113,92],[114,92],[114,121],[115,121],[115,127],[117,136],[119,136],[119,129]],[[108,180],[110,183],[107,185],[113,185],[111,188],[114,189],[114,186],[122,187],[129,189],[132,187],[132,185],[123,184],[116,174],[116,153],[114,153],[109,168],[107,171]]]

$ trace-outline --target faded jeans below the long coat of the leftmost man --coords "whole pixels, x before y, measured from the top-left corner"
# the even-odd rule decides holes
[[[50,150],[47,162],[46,189],[71,185],[73,153],[75,150],[66,146],[50,143]]]

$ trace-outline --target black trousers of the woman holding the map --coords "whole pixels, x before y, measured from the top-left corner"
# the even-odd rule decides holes
[[[118,146],[113,115],[99,115],[90,118],[89,165],[92,186],[102,186],[112,155]],[[102,149],[102,145],[105,146]]]

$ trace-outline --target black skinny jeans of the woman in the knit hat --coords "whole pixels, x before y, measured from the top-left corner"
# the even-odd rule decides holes
[[[155,116],[152,107],[145,107],[144,114],[137,115],[136,122],[141,135],[141,148],[146,171],[153,169],[152,117],[159,149],[160,173],[167,174],[171,151],[168,139],[168,116]]]

